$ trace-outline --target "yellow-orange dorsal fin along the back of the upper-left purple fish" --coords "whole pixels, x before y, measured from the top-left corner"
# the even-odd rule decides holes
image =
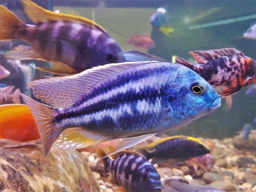
[[[63,13],[54,13],[47,9],[40,7],[38,4],[32,2],[31,0],[22,0],[21,3],[24,6],[27,16],[34,22],[47,22],[47,21],[71,21],[86,25],[91,28],[101,30],[106,33],[105,29],[91,21],[81,16],[68,15]]]

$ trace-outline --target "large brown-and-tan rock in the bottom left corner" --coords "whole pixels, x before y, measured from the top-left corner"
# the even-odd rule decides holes
[[[75,150],[52,148],[46,158],[40,145],[0,148],[0,191],[98,191],[98,182]]]

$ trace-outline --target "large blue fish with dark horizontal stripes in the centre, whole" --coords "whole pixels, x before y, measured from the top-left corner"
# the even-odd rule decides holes
[[[156,61],[107,64],[31,81],[28,87],[37,99],[53,105],[22,94],[38,122],[45,155],[59,136],[55,146],[64,149],[122,138],[116,153],[221,105],[216,91],[197,73]]]

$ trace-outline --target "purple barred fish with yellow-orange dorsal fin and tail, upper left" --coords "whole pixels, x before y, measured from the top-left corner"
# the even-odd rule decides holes
[[[53,62],[39,68],[55,74],[76,74],[96,65],[120,63],[125,57],[118,43],[97,23],[79,16],[54,13],[30,0],[21,1],[36,25],[28,25],[0,5],[0,41],[21,39],[31,46],[18,46],[4,55],[12,59]]]

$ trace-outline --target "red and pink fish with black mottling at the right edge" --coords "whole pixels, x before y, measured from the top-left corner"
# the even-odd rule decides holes
[[[214,87],[226,86],[219,93],[224,97],[256,82],[256,62],[235,48],[190,51],[189,54],[198,62],[196,65],[179,57],[176,63],[194,70]]]

